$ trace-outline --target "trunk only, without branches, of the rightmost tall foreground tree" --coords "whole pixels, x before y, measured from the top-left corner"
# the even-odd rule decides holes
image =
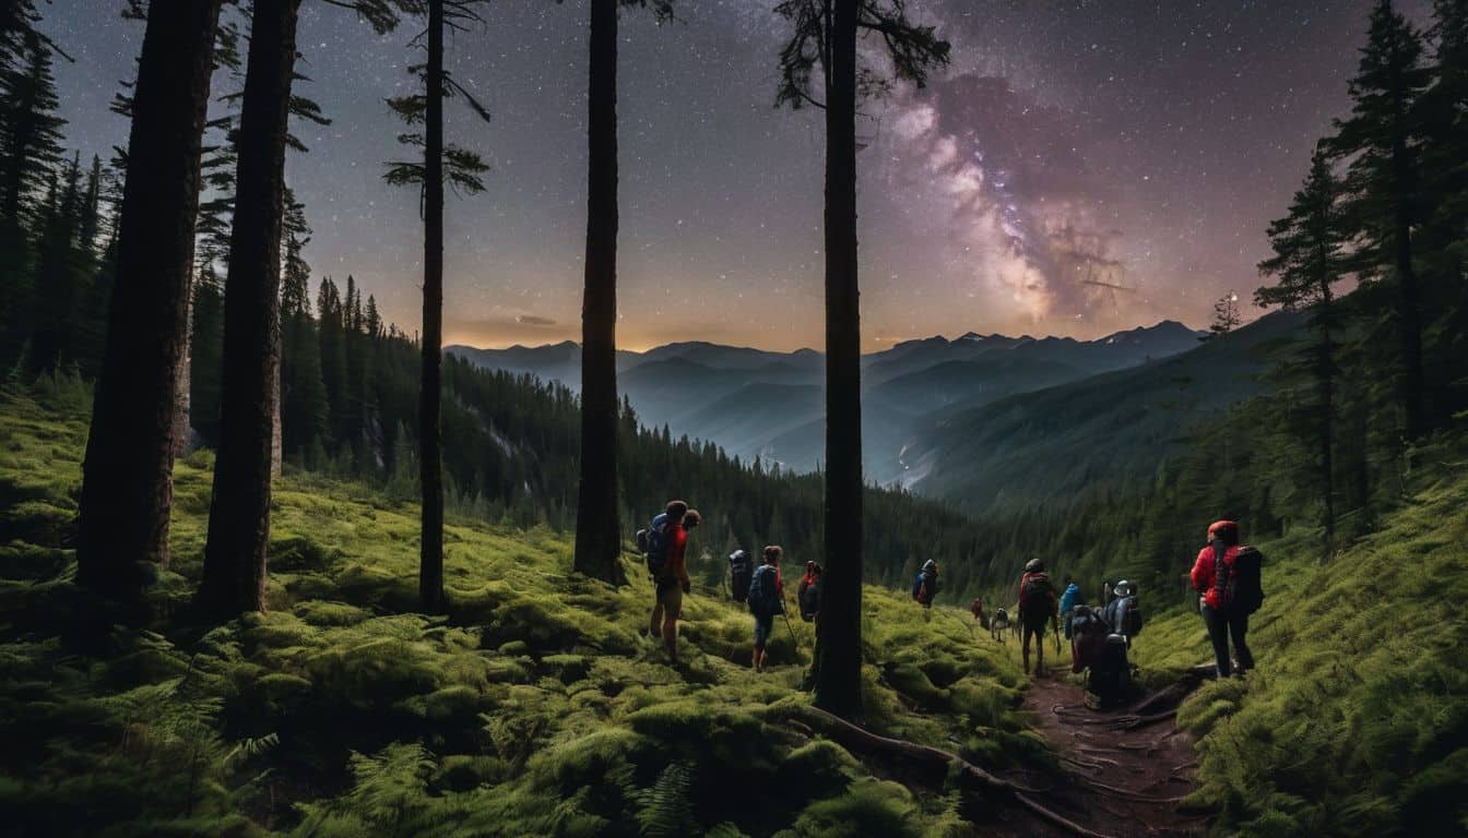
[[[826,85],[825,296],[826,465],[825,602],[816,706],[862,709],[862,317],[856,264],[857,0],[831,3]]]

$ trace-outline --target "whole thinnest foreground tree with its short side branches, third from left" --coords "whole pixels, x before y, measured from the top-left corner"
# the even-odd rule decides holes
[[[479,0],[427,0],[427,29],[420,37],[427,63],[411,68],[423,81],[423,92],[389,100],[393,112],[421,132],[399,135],[423,159],[393,163],[389,183],[420,183],[423,205],[423,371],[418,396],[418,473],[423,492],[418,596],[423,611],[443,609],[443,453],[442,453],[442,367],[443,367],[443,186],[465,192],[484,189],[480,175],[489,167],[473,151],[443,142],[443,100],[462,95],[482,119],[489,112],[443,69],[443,32],[479,21]]]

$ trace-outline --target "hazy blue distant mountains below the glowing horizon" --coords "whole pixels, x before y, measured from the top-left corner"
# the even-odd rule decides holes
[[[915,451],[935,456],[935,429],[1017,393],[1151,365],[1198,346],[1201,332],[1171,320],[1097,340],[969,333],[907,340],[863,365],[863,449],[868,480],[916,483]],[[581,348],[545,346],[445,352],[486,368],[531,374],[578,389]],[[643,424],[706,439],[740,458],[809,471],[824,455],[825,357],[706,342],[618,352],[618,389]],[[907,451],[909,453],[904,453]],[[904,461],[907,461],[904,464]],[[925,465],[922,474],[934,470]]]

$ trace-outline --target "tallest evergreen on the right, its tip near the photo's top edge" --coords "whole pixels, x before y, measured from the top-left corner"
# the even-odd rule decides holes
[[[1387,282],[1395,291],[1392,317],[1409,439],[1427,430],[1421,289],[1412,249],[1412,229],[1421,222],[1417,106],[1431,78],[1422,51],[1421,34],[1390,0],[1380,0],[1351,79],[1351,116],[1336,122],[1331,139],[1334,153],[1349,161],[1348,219],[1358,242],[1352,267],[1362,279]]]

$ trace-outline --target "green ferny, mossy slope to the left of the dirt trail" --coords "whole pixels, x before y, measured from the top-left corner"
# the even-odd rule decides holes
[[[361,486],[279,481],[269,613],[207,633],[164,618],[79,652],[66,635],[88,605],[65,543],[85,424],[57,418],[78,415],[0,402],[12,835],[972,834],[960,795],[915,797],[780,724],[806,700],[802,668],[753,675],[747,613],[687,600],[675,671],[640,634],[646,581],[571,578],[549,531],[451,525],[451,615],[411,613],[415,508]],[[178,465],[160,613],[181,615],[198,575],[208,464]],[[1014,662],[973,644],[966,615],[919,618],[876,589],[866,603],[871,726],[957,735],[986,766],[1045,760]],[[796,659],[780,627],[772,659]]]

